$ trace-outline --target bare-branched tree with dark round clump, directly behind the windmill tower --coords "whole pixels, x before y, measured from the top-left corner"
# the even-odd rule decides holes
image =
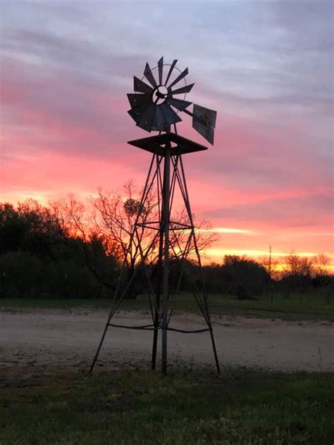
[[[96,199],[92,200],[94,208],[94,227],[97,232],[104,234],[111,242],[116,244],[123,252],[123,261],[127,270],[127,277],[131,277],[141,261],[142,256],[146,258],[146,263],[154,270],[158,258],[158,242],[156,238],[156,228],[149,229],[152,221],[158,222],[159,203],[154,192],[151,192],[145,205],[141,206],[141,192],[138,193],[135,185],[130,180],[125,183],[124,194],[109,194],[99,189]],[[192,215],[194,220],[194,215]],[[173,215],[173,220],[178,227],[170,230],[170,259],[173,270],[180,269],[187,262],[181,265],[180,260],[189,260],[195,253],[194,239],[190,238],[190,229],[180,230],[180,225],[190,225],[190,218],[186,211]],[[132,234],[136,232],[136,236]],[[206,220],[199,221],[196,227],[197,249],[202,251],[217,239],[216,234],[211,231],[211,226]],[[132,249],[129,243],[132,242]],[[187,245],[187,258],[183,257],[183,249]],[[139,276],[134,282],[134,292],[142,290],[142,278]],[[137,282],[137,286],[136,286]],[[138,284],[140,283],[140,284]]]

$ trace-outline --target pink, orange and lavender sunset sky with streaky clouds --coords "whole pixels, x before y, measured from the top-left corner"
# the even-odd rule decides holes
[[[1,201],[144,181],[132,76],[178,58],[187,99],[218,111],[185,156],[208,251],[333,249],[333,1],[10,1],[1,8]],[[185,116],[178,132],[206,144]]]

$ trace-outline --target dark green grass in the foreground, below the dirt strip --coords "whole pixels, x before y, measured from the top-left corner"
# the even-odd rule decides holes
[[[50,377],[1,389],[0,444],[333,444],[333,393],[326,373]]]

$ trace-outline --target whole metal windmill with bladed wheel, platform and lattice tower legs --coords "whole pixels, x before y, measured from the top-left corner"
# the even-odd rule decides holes
[[[187,84],[185,77],[187,68],[180,71],[176,66],[178,61],[164,64],[163,57],[156,68],[151,69],[146,64],[144,76],[140,80],[134,77],[134,94],[128,94],[131,109],[128,111],[138,127],[147,132],[159,132],[151,137],[128,142],[133,146],[152,153],[147,180],[144,184],[140,204],[136,208],[134,229],[128,242],[128,252],[139,249],[140,263],[126,284],[122,284],[122,275],[113,298],[113,306],[104,327],[101,341],[94,356],[90,372],[97,361],[104,337],[109,327],[125,327],[136,330],[151,330],[153,332],[153,346],[151,356],[152,369],[156,367],[156,351],[158,334],[161,330],[161,370],[167,370],[167,332],[200,333],[209,332],[214,351],[214,359],[218,374],[220,373],[214,332],[209,314],[206,289],[199,256],[199,247],[195,234],[195,227],[190,209],[190,199],[183,166],[183,155],[195,151],[206,150],[206,146],[181,137],[176,124],[181,121],[180,112],[192,116],[192,126],[211,144],[214,144],[214,127],[216,125],[216,111],[193,104],[192,112],[188,111],[192,105],[185,101],[194,84]],[[180,99],[180,97],[182,99]],[[155,217],[147,215],[147,203],[154,190],[157,212]],[[176,191],[182,201],[185,218],[173,217],[173,203]],[[149,233],[149,242],[142,242],[143,231]],[[200,277],[198,283],[192,280],[192,273],[187,271],[187,258],[193,254],[197,261]],[[171,263],[178,260],[178,280],[172,286]],[[124,269],[124,268],[123,268]],[[136,274],[142,270],[147,282],[147,294],[151,308],[151,324],[144,326],[116,325],[112,322],[113,315],[129,287],[133,284]],[[187,276],[192,286],[192,294],[206,322],[206,328],[199,330],[183,330],[171,326],[173,302],[178,294],[183,277]],[[197,280],[198,281],[198,280]]]

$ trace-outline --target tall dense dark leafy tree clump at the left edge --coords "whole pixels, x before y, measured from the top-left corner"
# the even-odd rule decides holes
[[[75,249],[73,249],[75,246]],[[86,251],[105,280],[116,280],[115,258],[103,237],[84,240],[64,230],[52,208],[27,199],[0,204],[1,294],[40,296],[96,294],[95,280],[79,251]]]

